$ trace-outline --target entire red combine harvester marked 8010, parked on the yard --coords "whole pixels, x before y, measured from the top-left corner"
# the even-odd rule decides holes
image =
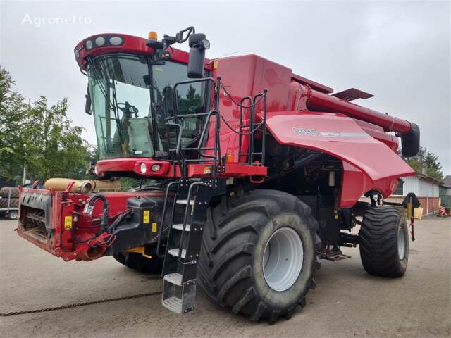
[[[187,40],[189,53],[171,46]],[[176,313],[192,310],[199,283],[233,313],[288,318],[319,259],[349,257],[340,246],[359,246],[368,273],[404,275],[409,227],[383,199],[414,175],[398,137],[414,156],[419,127],[351,102],[371,94],[333,94],[256,55],[208,60],[206,49],[194,27],[82,40],[100,178],[24,188],[18,234],[65,261],[113,256],[161,273]],[[95,187],[113,190],[116,177],[146,184]],[[411,215],[418,201],[402,206]]]

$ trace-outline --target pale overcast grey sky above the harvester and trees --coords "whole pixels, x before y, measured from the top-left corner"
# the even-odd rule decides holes
[[[258,54],[335,92],[373,94],[354,102],[418,124],[421,145],[451,175],[451,1],[0,1],[0,65],[31,101],[67,97],[92,144],[75,44],[194,25],[211,42],[208,58]]]

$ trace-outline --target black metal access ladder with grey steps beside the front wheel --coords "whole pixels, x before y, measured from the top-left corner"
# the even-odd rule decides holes
[[[171,190],[177,188],[171,196]],[[197,262],[210,199],[226,193],[226,181],[180,178],[168,184],[163,215],[172,198],[172,212],[163,263],[162,305],[175,313],[194,308]],[[180,212],[183,211],[183,212]],[[163,216],[164,217],[164,216]],[[161,224],[164,220],[162,219]],[[161,227],[162,228],[162,227]],[[159,246],[157,252],[160,253]]]

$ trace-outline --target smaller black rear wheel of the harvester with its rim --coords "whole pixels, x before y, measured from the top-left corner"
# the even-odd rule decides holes
[[[409,228],[393,208],[369,208],[359,231],[360,258],[366,272],[401,277],[409,259]]]

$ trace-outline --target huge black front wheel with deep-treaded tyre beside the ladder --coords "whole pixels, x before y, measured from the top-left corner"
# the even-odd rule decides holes
[[[285,192],[223,197],[207,213],[199,286],[214,303],[251,320],[290,318],[315,286],[316,230],[309,207]]]

